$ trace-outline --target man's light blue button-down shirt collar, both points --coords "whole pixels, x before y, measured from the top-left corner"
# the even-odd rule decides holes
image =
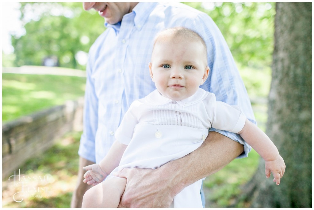
[[[158,3],[156,2],[139,2],[132,10],[132,13],[135,13],[134,25],[138,30],[141,30],[144,23],[147,21],[149,14],[153,11]],[[120,31],[121,21],[112,25],[106,22],[105,27],[113,28],[117,33]]]

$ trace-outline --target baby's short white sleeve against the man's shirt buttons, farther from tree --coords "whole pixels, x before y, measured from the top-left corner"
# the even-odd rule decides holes
[[[121,124],[115,132],[115,138],[120,143],[128,145],[133,137],[133,131],[135,126],[138,124],[138,118],[136,117],[138,101],[134,101],[125,115],[122,118]]]

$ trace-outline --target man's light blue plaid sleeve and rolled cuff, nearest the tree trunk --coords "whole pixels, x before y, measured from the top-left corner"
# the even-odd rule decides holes
[[[230,49],[214,21],[205,13],[200,13],[191,25],[191,29],[199,33],[208,50],[208,66],[210,68],[207,81],[201,86],[216,95],[216,100],[229,105],[237,105],[244,115],[256,124],[251,102],[241,79]],[[244,153],[239,157],[246,157],[251,147],[239,134],[211,128],[244,146]]]

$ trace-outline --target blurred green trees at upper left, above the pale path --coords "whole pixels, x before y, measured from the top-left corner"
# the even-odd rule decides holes
[[[26,34],[12,37],[16,66],[41,65],[44,57],[55,55],[62,67],[85,69],[76,55],[88,53],[105,30],[103,18],[71,2],[21,3],[20,11]]]

